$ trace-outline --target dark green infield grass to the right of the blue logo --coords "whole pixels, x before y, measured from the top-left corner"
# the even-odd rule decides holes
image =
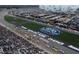
[[[59,36],[56,37],[58,40],[65,42],[67,44],[72,44],[75,47],[79,47],[79,36],[69,33],[62,32]]]

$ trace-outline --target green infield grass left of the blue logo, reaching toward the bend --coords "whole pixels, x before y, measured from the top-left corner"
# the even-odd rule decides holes
[[[28,29],[31,29],[34,31],[38,31],[40,28],[45,27],[44,25],[40,25],[34,22],[28,22],[19,18],[16,18],[16,20],[14,20],[14,17],[11,17],[11,16],[5,16],[5,20],[9,23],[16,22],[17,24],[23,25]]]

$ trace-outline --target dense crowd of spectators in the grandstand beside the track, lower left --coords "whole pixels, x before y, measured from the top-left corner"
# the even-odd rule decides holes
[[[47,53],[33,44],[0,26],[1,54],[44,54]]]

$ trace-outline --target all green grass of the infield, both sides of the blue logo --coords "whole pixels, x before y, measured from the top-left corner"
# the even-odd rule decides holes
[[[28,21],[25,21],[19,18],[16,18],[16,20],[14,19],[15,19],[14,17],[5,16],[5,20],[7,22],[9,23],[16,22],[17,24],[21,24],[27,27],[28,29],[31,29],[34,31],[38,31],[40,28],[45,27],[44,25],[37,24],[34,22],[28,22]],[[74,45],[75,47],[79,47],[79,36],[78,35],[62,31],[62,33],[59,36],[56,36],[54,38],[59,41],[65,42],[67,44]]]

